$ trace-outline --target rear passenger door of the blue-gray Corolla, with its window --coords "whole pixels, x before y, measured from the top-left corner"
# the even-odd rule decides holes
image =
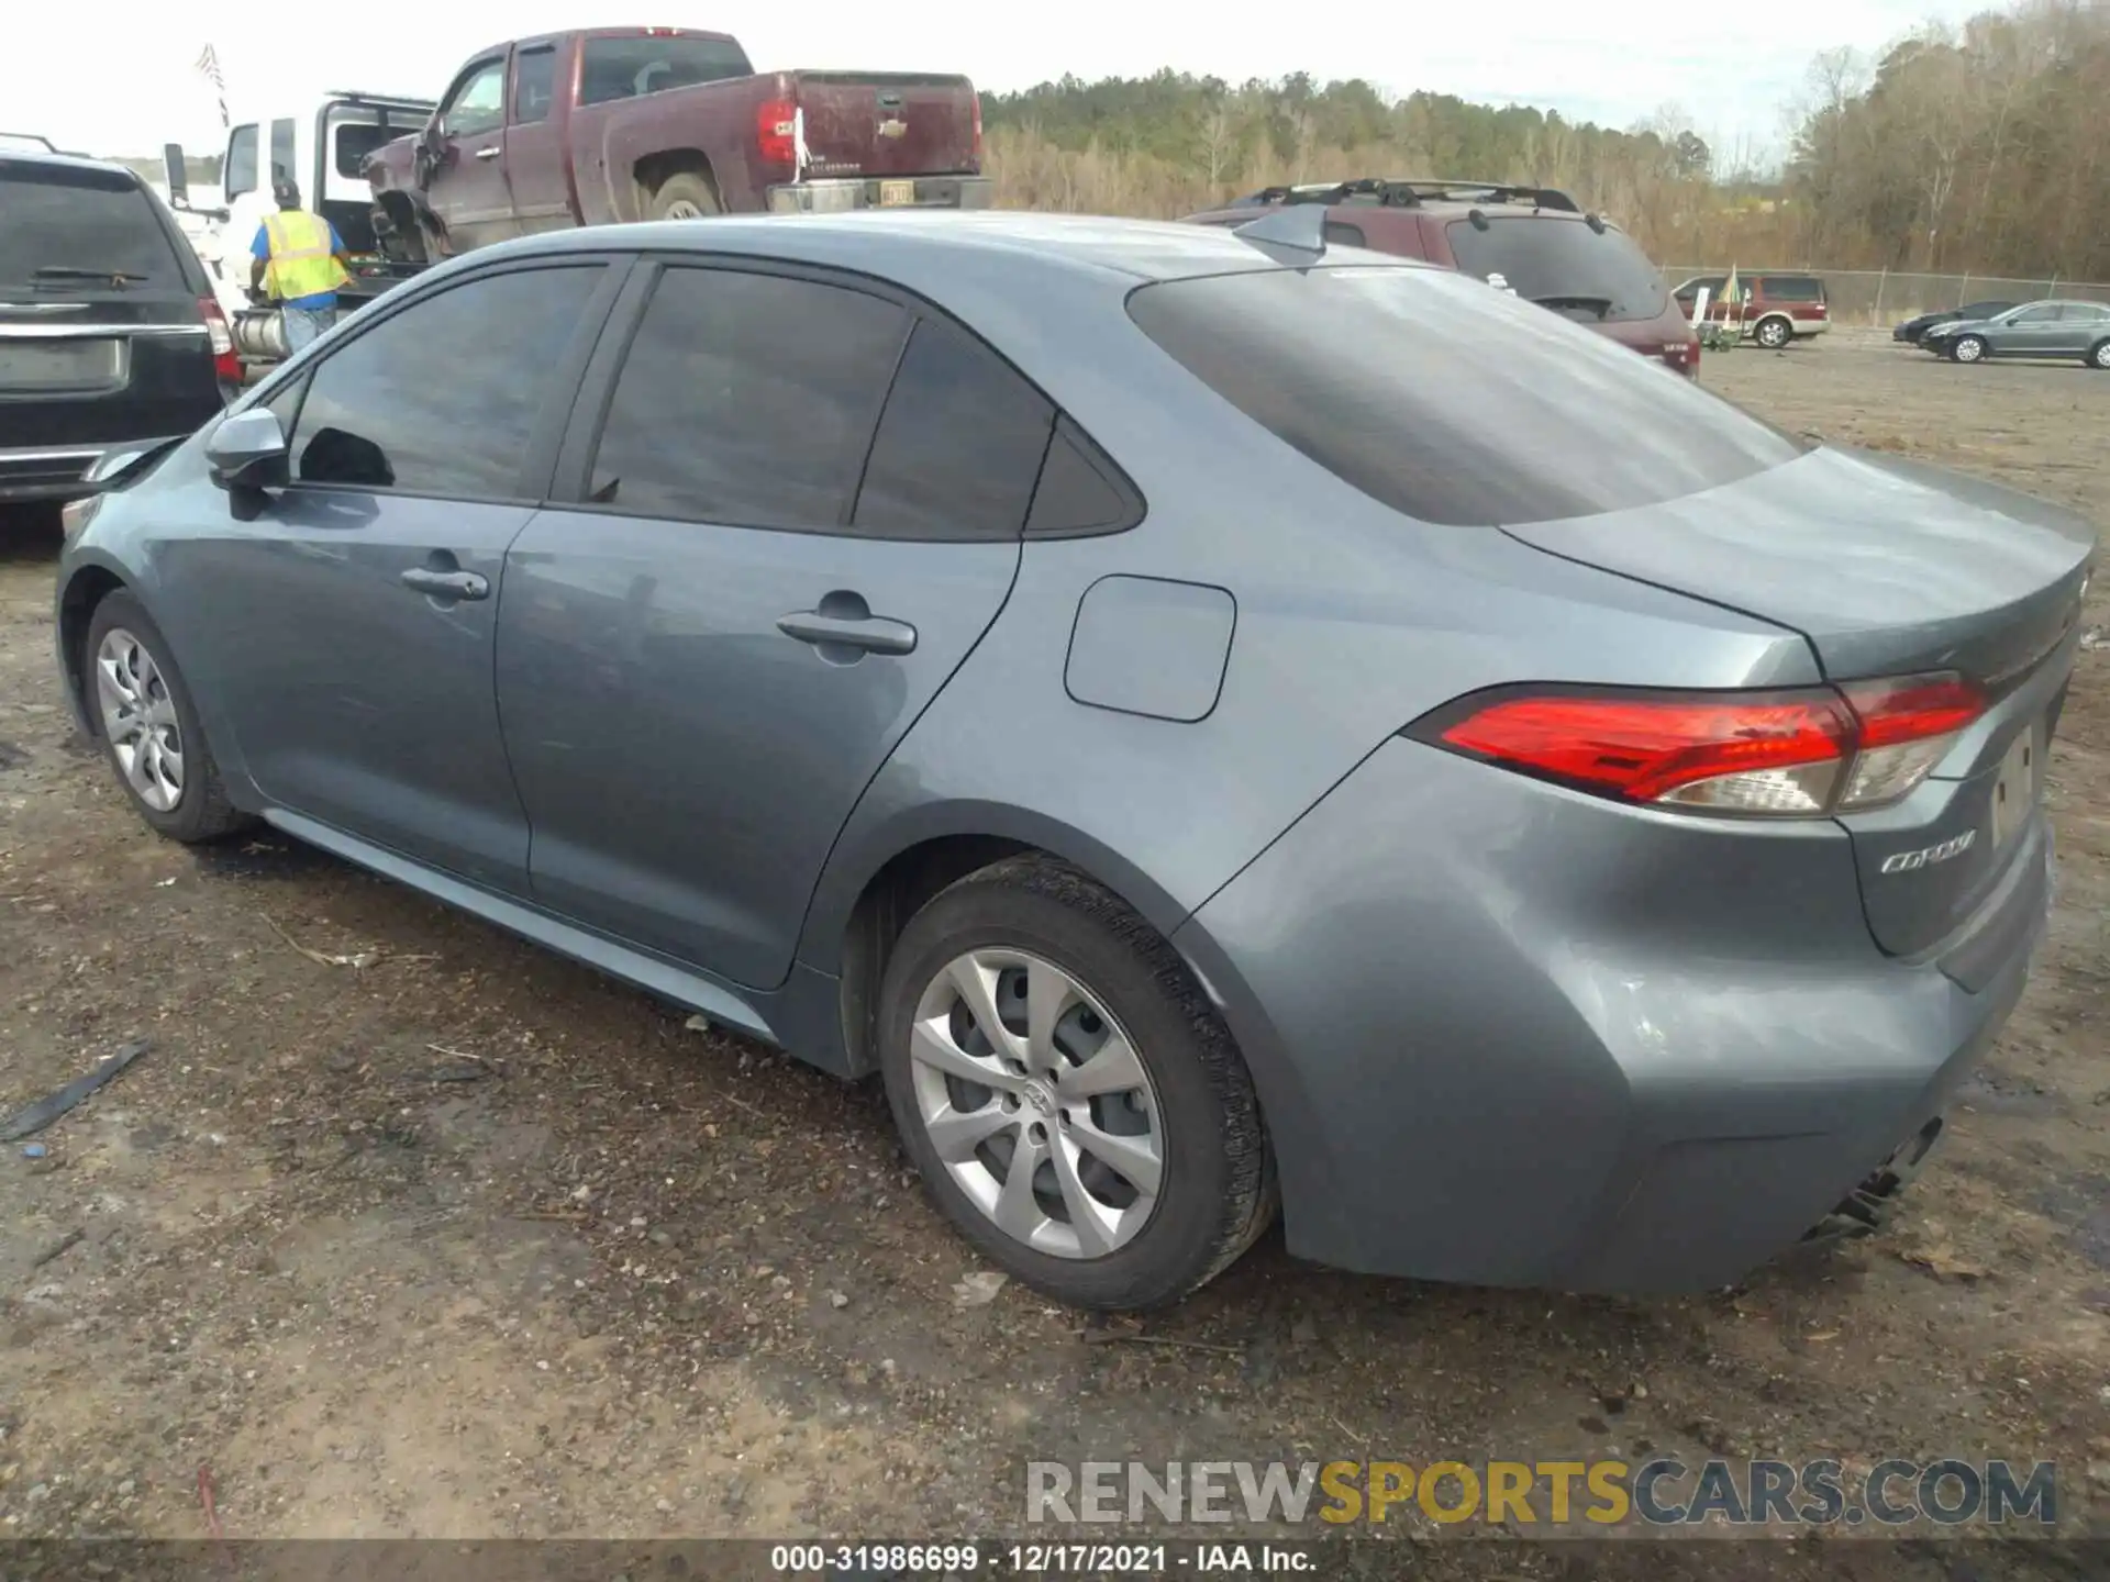
[[[576,504],[506,555],[534,892],[770,987],[865,785],[1011,591],[1053,409],[857,278],[667,264],[614,340],[559,464]]]

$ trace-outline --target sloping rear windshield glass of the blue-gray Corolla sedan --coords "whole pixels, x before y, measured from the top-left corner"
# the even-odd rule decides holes
[[[1447,270],[1167,281],[1135,291],[1129,314],[1277,439],[1420,521],[1650,506],[1804,449],[1661,363]]]

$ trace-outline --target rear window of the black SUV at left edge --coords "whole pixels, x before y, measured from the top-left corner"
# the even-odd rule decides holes
[[[0,285],[34,283],[38,270],[184,281],[154,198],[131,175],[0,162]]]

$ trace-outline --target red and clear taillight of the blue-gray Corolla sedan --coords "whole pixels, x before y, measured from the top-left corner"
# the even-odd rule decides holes
[[[1409,734],[1625,802],[1823,816],[1910,795],[1983,709],[1945,673],[1794,692],[1504,688]]]

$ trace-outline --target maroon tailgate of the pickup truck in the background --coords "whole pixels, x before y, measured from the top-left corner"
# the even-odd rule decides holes
[[[941,175],[979,169],[979,105],[964,76],[798,72],[806,173]]]

